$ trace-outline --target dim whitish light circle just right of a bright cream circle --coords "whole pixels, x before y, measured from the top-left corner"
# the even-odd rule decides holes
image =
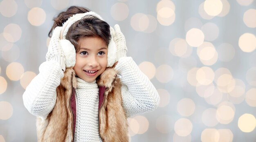
[[[204,33],[204,40],[213,41],[219,36],[219,27],[214,23],[208,22],[202,26],[202,32]]]

